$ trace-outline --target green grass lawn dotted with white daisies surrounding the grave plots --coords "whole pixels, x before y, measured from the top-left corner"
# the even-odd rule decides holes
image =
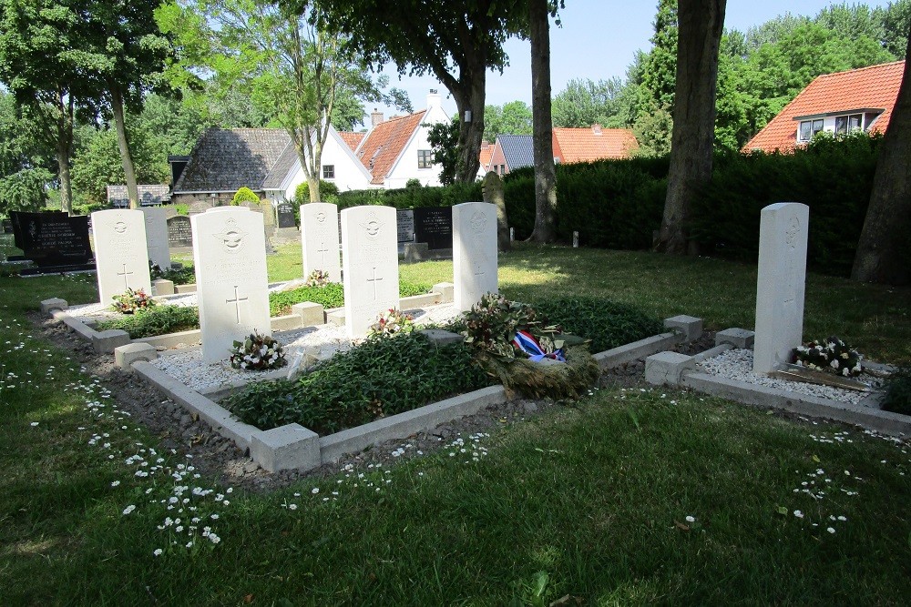
[[[270,258],[270,278],[297,278],[296,255]],[[401,268],[426,284],[451,272]],[[523,245],[500,282],[752,328],[755,268],[713,259]],[[229,492],[33,337],[26,312],[50,297],[94,300],[95,279],[0,278],[5,604],[906,602],[905,444],[606,388],[393,470]],[[911,361],[908,289],[811,275],[806,310],[808,339]]]

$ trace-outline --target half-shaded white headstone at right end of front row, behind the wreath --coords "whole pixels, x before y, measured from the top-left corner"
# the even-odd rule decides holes
[[[471,309],[496,293],[496,205],[464,202],[453,207],[455,309]]]

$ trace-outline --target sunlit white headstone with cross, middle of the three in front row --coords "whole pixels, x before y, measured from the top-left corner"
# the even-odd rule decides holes
[[[361,338],[381,312],[398,308],[398,249],[393,207],[342,211],[345,327]]]

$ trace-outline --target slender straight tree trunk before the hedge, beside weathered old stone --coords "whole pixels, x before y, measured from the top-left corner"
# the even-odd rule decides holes
[[[553,119],[550,111],[550,19],[548,0],[528,0],[531,34],[531,110],[535,155],[535,229],[530,240],[557,238],[557,169],[554,167]]]

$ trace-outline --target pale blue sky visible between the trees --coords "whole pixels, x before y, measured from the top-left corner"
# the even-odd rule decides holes
[[[726,29],[745,32],[778,15],[813,16],[841,0],[728,0],[724,15]],[[864,0],[870,7],[888,5],[887,0]],[[654,33],[652,21],[658,0],[567,0],[560,11],[562,27],[550,27],[550,82],[554,95],[573,78],[607,80],[625,78],[627,66],[636,51],[648,50]],[[503,71],[488,72],[486,104],[502,106],[520,100],[531,105],[531,46],[527,41],[509,40],[506,44],[509,66]],[[403,88],[419,111],[426,106],[431,88],[443,96],[443,107],[452,116],[455,101],[445,86],[433,76],[407,77],[399,80],[395,66],[386,66],[390,86]],[[367,113],[373,107],[367,108]],[[380,107],[386,117],[400,114],[394,108]],[[369,119],[368,119],[369,122]]]

